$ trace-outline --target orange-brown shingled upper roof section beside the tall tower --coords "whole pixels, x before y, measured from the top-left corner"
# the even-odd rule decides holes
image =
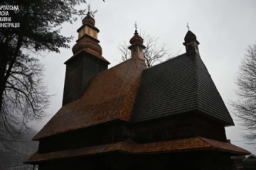
[[[33,140],[110,120],[128,121],[144,69],[143,60],[129,59],[97,74],[82,98],[60,108]]]

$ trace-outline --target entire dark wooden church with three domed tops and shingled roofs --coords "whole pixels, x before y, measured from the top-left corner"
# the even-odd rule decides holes
[[[225,169],[231,156],[250,154],[227,142],[234,125],[186,33],[186,53],[146,68],[143,39],[132,57],[108,69],[87,14],[66,64],[63,106],[33,137],[38,152],[26,164],[50,169]]]

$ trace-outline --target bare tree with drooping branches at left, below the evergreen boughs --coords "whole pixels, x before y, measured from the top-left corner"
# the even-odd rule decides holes
[[[11,140],[26,129],[28,120],[37,120],[45,115],[49,103],[46,86],[43,85],[43,66],[39,60],[27,55],[17,58],[4,87],[0,138]]]

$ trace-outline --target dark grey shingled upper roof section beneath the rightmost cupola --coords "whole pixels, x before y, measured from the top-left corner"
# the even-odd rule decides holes
[[[202,111],[224,125],[234,125],[199,55],[179,55],[144,70],[133,123],[188,111]]]

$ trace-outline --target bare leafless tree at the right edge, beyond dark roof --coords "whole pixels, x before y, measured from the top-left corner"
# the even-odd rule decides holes
[[[247,48],[236,84],[239,100],[233,102],[235,115],[247,129],[245,138],[256,140],[256,44]]]

